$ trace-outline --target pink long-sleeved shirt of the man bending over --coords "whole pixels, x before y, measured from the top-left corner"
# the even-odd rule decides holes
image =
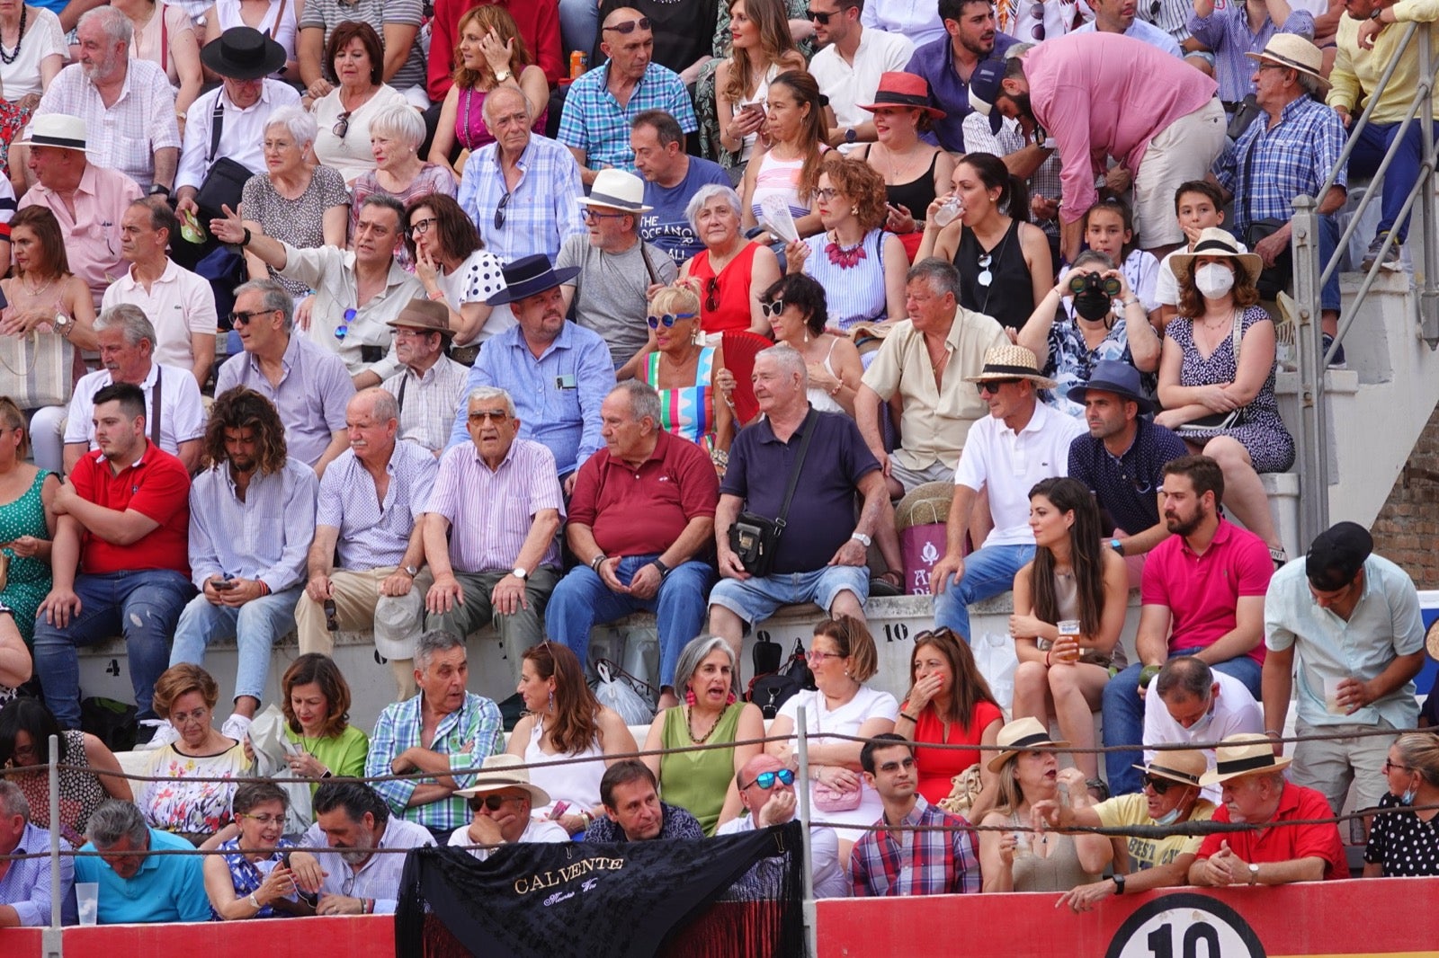
[[[1105,157],[1138,173],[1150,140],[1219,92],[1219,83],[1143,40],[1071,33],[1025,53],[1029,102],[1059,148],[1063,207],[1073,223],[1094,206]]]

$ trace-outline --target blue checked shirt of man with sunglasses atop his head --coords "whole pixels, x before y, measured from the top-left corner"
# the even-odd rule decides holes
[[[685,83],[673,70],[650,60],[623,106],[607,86],[609,76],[610,65],[604,63],[574,81],[560,117],[557,140],[566,147],[583,150],[584,164],[591,170],[616,167],[635,171],[629,124],[646,109],[663,109],[679,121],[686,134],[699,128]]]

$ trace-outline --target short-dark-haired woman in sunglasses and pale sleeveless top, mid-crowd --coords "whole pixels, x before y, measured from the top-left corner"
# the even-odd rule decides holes
[[[804,357],[810,406],[820,413],[853,416],[865,367],[848,337],[825,331],[829,322],[825,288],[804,273],[790,273],[764,291],[760,308],[774,341]]]

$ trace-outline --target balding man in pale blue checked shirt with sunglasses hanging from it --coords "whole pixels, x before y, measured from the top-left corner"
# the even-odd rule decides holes
[[[584,196],[578,164],[564,145],[531,129],[543,108],[514,86],[489,91],[481,109],[495,142],[469,158],[455,196],[485,247],[507,263],[535,253],[553,262],[564,240],[587,234],[576,203]]]

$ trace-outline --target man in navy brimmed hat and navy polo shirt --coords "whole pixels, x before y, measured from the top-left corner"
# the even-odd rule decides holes
[[[1069,475],[1089,486],[1108,528],[1118,529],[1109,548],[1144,555],[1168,538],[1160,521],[1160,486],[1164,463],[1189,455],[1184,440],[1147,419],[1154,404],[1128,362],[1097,362],[1089,384],[1069,396],[1084,403],[1089,424],[1089,434],[1069,444]]]

